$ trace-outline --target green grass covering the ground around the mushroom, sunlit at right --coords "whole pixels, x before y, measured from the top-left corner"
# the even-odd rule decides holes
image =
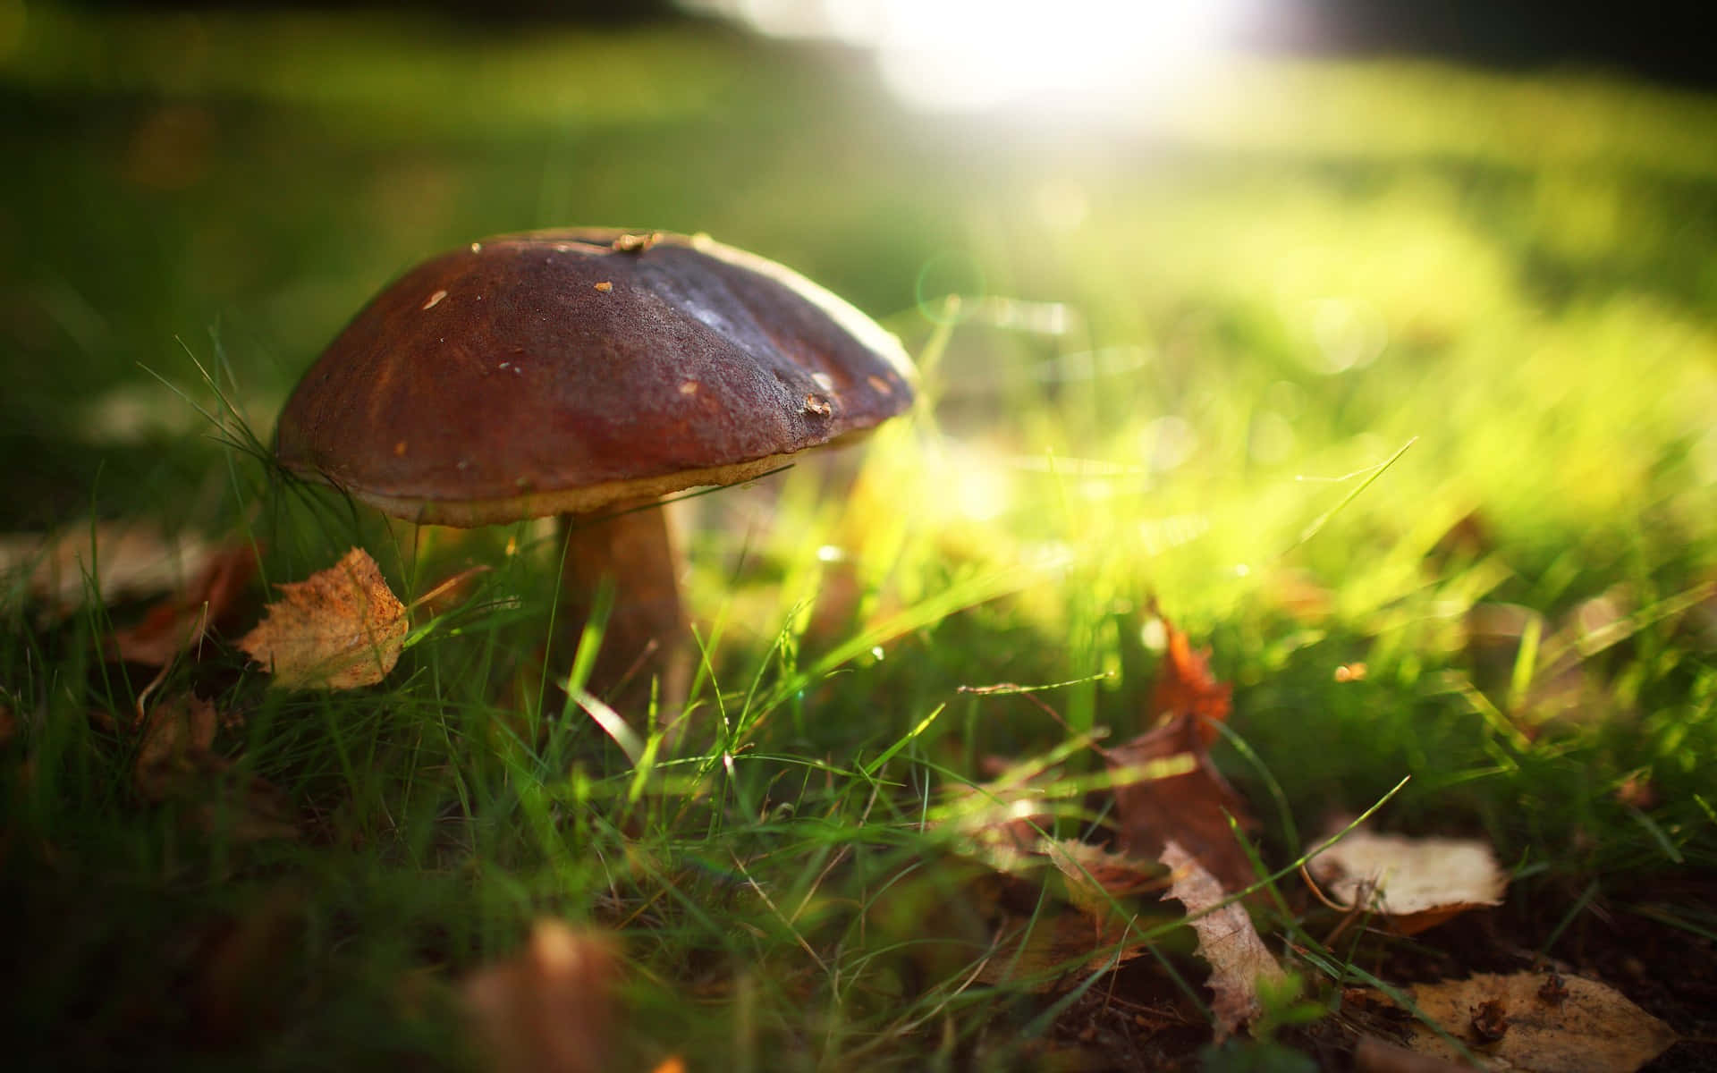
[[[706,27],[14,9],[0,522],[254,541],[252,603],[352,544],[407,599],[493,567],[379,687],[271,692],[225,646],[158,687],[242,716],[227,778],[278,786],[297,841],[139,802],[151,675],[100,651],[141,606],[55,618],[9,579],[22,1064],[464,1066],[457,980],[543,915],[620,937],[625,1068],[1197,1064],[1205,970],[1171,913],[1133,906],[1154,956],[1065,999],[977,984],[982,884],[927,822],[991,757],[1054,757],[1077,815],[1078,735],[1140,730],[1152,597],[1235,683],[1216,757],[1267,870],[1411,776],[1384,826],[1514,872],[1485,924],[1334,949],[1276,884],[1260,924],[1319,1008],[1355,973],[1538,953],[1712,1035],[1665,953],[1717,932],[1712,101],[1255,64],[1168,117],[1008,129]],[[258,457],[367,294],[553,223],[709,230],[925,369],[862,453],[683,505],[719,735],[642,767],[537,658],[546,530],[416,532]],[[999,682],[1065,683],[1034,694],[1061,723],[960,692]],[[1327,1058],[1331,1032],[1281,1039]]]

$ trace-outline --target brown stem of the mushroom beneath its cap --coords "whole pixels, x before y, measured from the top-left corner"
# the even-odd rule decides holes
[[[585,690],[623,716],[640,719],[652,688],[659,718],[680,718],[692,671],[692,635],[680,604],[680,549],[661,505],[616,503],[603,517],[561,517],[563,633],[577,646],[608,579],[613,611]],[[658,685],[659,682],[659,685]]]

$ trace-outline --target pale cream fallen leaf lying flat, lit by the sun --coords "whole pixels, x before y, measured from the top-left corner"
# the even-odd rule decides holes
[[[1508,876],[1490,846],[1465,838],[1351,831],[1314,857],[1307,870],[1343,908],[1365,903],[1403,936],[1466,910],[1502,905],[1508,891]]]

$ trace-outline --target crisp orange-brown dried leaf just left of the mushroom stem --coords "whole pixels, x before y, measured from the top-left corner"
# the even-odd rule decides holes
[[[388,676],[405,644],[405,604],[362,548],[328,570],[280,585],[239,647],[282,688],[357,688]]]

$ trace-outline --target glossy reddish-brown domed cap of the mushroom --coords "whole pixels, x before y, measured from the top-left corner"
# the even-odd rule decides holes
[[[912,403],[895,336],[706,235],[503,235],[376,295],[275,452],[391,515],[489,525],[731,484]]]

